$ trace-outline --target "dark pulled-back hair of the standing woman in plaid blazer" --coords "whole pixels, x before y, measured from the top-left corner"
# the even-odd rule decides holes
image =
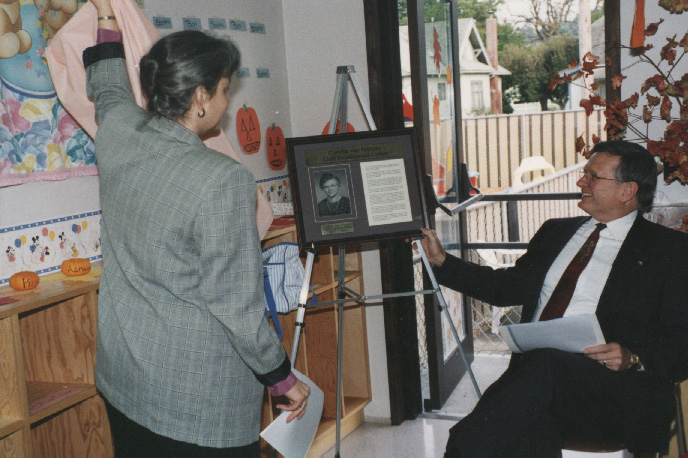
[[[184,117],[196,88],[213,96],[222,78],[239,68],[240,55],[229,39],[184,30],[158,40],[141,59],[141,88],[146,108],[170,119]]]

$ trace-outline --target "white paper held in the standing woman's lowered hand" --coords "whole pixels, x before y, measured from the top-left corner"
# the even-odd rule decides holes
[[[301,420],[295,418],[287,423],[287,417],[291,412],[284,411],[260,433],[260,437],[265,439],[285,458],[303,458],[306,456],[315,438],[315,431],[320,424],[325,401],[322,390],[312,380],[297,370],[294,370],[294,374],[311,389],[306,404],[306,414],[301,417]]]

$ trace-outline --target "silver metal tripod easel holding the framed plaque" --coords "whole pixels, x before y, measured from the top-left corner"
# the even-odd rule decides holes
[[[361,104],[361,108],[363,109],[363,113],[365,114],[366,121],[368,122],[368,126],[370,127],[370,130],[377,130],[377,127],[375,126],[375,121],[373,121],[373,117],[370,113],[370,110],[368,109],[368,102],[365,99],[365,96],[363,95],[361,91],[361,86],[358,83],[358,79],[356,78],[356,71],[354,70],[353,65],[343,65],[337,67],[337,89],[335,91],[334,95],[334,103],[332,106],[332,115],[330,117],[330,128],[329,128],[329,134],[334,134],[337,129],[337,122],[339,121],[340,123],[340,132],[341,133],[346,133],[346,123],[347,123],[347,98],[348,98],[348,81],[349,79],[351,80],[351,83],[353,84],[354,91],[356,92],[356,96],[358,97],[358,101]],[[469,201],[463,202],[460,204],[457,208],[454,208],[452,210],[453,214],[456,214],[464,209],[466,209],[469,205],[474,203],[476,199],[469,199]],[[423,264],[425,265],[425,269],[428,272],[428,276],[430,278],[430,282],[432,283],[432,290],[424,290],[424,291],[410,291],[410,292],[404,292],[404,293],[391,293],[391,294],[380,294],[377,296],[361,296],[355,291],[352,291],[351,289],[347,288],[344,282],[344,277],[346,275],[345,272],[345,255],[346,255],[346,249],[344,245],[339,245],[339,272],[337,273],[337,282],[338,282],[338,299],[335,299],[333,301],[326,301],[326,302],[318,302],[316,305],[309,305],[309,308],[314,308],[314,307],[322,307],[325,305],[337,305],[337,419],[336,419],[336,428],[337,428],[337,435],[336,435],[336,443],[335,443],[335,457],[339,458],[339,445],[341,441],[341,419],[342,419],[342,350],[343,350],[343,339],[342,339],[342,330],[344,327],[344,304],[347,302],[360,302],[360,301],[365,301],[369,299],[386,299],[386,298],[392,298],[392,297],[401,297],[401,296],[416,296],[419,294],[435,294],[437,297],[437,301],[439,302],[439,308],[444,312],[445,317],[449,321],[449,328],[452,330],[452,333],[454,334],[454,339],[456,340],[456,344],[459,350],[459,353],[461,354],[461,359],[463,360],[464,365],[466,366],[466,370],[471,378],[471,382],[473,383],[473,387],[475,388],[476,393],[478,394],[478,397],[480,398],[481,393],[480,393],[480,388],[478,387],[478,383],[475,380],[475,376],[473,375],[473,371],[471,370],[471,366],[468,363],[468,359],[466,358],[466,354],[463,351],[463,347],[461,346],[461,338],[459,337],[458,332],[456,331],[456,328],[454,327],[451,319],[451,315],[449,314],[449,310],[447,309],[447,303],[444,300],[444,295],[442,294],[442,291],[440,290],[439,284],[437,283],[437,280],[435,278],[435,275],[432,271],[432,266],[430,265],[430,261],[428,260],[427,255],[425,254],[425,250],[423,249],[423,244],[421,243],[420,238],[414,240],[416,242],[416,246],[418,248],[418,251],[420,252],[421,258],[423,259]],[[311,279],[311,274],[313,273],[313,261],[315,259],[317,251],[315,247],[311,247],[306,250],[306,266],[305,266],[305,273],[303,276],[303,281],[301,283],[301,290],[299,294],[299,304],[296,312],[296,322],[295,322],[295,328],[294,328],[294,341],[292,343],[292,348],[291,348],[291,364],[292,367],[294,367],[294,364],[296,364],[296,354],[298,352],[298,347],[299,347],[299,339],[301,337],[301,330],[305,326],[305,316],[306,316],[306,308],[307,308],[307,303],[308,303],[308,291],[310,289],[310,279]]]

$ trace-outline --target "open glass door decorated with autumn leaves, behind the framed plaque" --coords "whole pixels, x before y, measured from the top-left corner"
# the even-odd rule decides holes
[[[426,172],[440,202],[457,205],[461,138],[456,0],[399,0],[402,98],[407,125],[416,127]],[[432,218],[434,216],[434,218]],[[438,209],[434,228],[448,251],[461,256],[462,217]],[[425,288],[430,285],[426,279]],[[442,288],[469,361],[473,359],[471,314],[461,294]],[[439,409],[466,372],[450,323],[432,296],[422,304],[428,390],[426,410]],[[422,324],[419,324],[422,326]],[[419,333],[422,335],[422,329]],[[421,339],[422,340],[422,339]],[[421,342],[422,345],[422,342]],[[423,350],[421,350],[423,353]]]

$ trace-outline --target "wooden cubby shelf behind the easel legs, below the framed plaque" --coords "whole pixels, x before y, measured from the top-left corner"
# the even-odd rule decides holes
[[[274,226],[273,226],[274,228]],[[296,242],[294,226],[271,230],[263,239],[263,247],[282,242]],[[304,260],[305,261],[305,260]],[[337,295],[339,269],[338,248],[321,248],[313,263],[311,287],[321,302]],[[346,247],[346,286],[363,294],[361,254],[357,245]],[[335,444],[337,414],[337,319],[336,305],[323,306],[306,312],[305,324],[299,340],[295,367],[308,376],[325,393],[323,416],[308,456],[318,457]],[[282,344],[291,355],[296,312],[280,315],[283,330]],[[342,422],[343,438],[364,421],[363,408],[370,402],[370,370],[366,338],[365,308],[362,303],[347,303],[343,315],[342,355]],[[270,396],[263,404],[264,428],[279,415]],[[264,445],[264,456],[271,456]]]

